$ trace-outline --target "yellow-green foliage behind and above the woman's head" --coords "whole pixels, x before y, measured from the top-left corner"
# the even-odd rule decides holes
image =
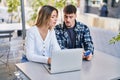
[[[75,5],[75,2],[74,0],[70,0],[72,4]],[[31,15],[31,18],[30,20],[28,21],[28,23],[30,25],[33,25],[31,23],[34,23],[36,17],[37,17],[37,11],[38,11],[38,8],[40,6],[43,6],[43,5],[47,5],[47,4],[50,4],[60,10],[62,10],[62,8],[66,5],[66,0],[33,0],[31,6],[32,6],[32,9],[33,9],[33,14]],[[62,11],[60,11],[62,13]],[[31,22],[32,21],[32,22]]]

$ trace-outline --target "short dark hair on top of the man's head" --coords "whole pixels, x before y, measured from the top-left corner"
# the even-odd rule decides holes
[[[72,14],[72,13],[76,14],[76,11],[77,11],[77,8],[72,4],[65,6],[63,10],[63,12],[66,14]]]

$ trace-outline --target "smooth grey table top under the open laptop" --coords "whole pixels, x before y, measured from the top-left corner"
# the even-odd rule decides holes
[[[76,72],[50,74],[40,63],[18,63],[16,67],[31,80],[111,80],[120,77],[120,59],[95,51],[91,61],[82,61]]]

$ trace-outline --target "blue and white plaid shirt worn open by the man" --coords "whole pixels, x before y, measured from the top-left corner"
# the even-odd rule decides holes
[[[74,32],[76,35],[75,48],[84,48],[85,51],[90,50],[93,53],[94,46],[89,28],[86,25],[76,21]],[[55,27],[55,34],[61,49],[69,48],[68,45],[70,37],[67,29],[65,28],[65,23],[63,25],[59,24]]]

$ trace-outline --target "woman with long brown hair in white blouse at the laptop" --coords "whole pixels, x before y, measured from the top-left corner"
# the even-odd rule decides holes
[[[51,62],[52,50],[60,50],[54,26],[56,25],[58,10],[52,6],[43,6],[36,18],[35,26],[27,31],[26,56],[29,61]]]

